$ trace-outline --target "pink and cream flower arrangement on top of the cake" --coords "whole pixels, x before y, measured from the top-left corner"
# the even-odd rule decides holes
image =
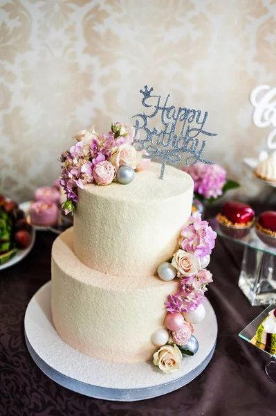
[[[66,193],[65,214],[73,213],[78,201],[77,189],[83,189],[85,184],[111,184],[120,166],[130,166],[136,171],[147,168],[150,160],[142,158],[143,151],[138,152],[131,145],[134,133],[133,126],[117,122],[111,124],[107,134],[99,135],[92,126],[73,136],[77,143],[62,153],[60,159],[60,184]]]

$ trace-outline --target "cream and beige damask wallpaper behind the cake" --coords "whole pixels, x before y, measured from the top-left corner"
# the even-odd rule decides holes
[[[276,86],[275,0],[2,0],[1,188],[27,200],[59,175],[71,136],[131,122],[145,84],[207,110],[206,159],[244,183],[265,148],[250,91]],[[247,181],[246,181],[247,182]],[[262,189],[245,184],[247,194]],[[245,193],[244,189],[240,191]]]

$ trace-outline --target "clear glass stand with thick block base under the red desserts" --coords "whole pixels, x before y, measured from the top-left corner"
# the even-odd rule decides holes
[[[217,218],[209,223],[219,236],[243,245],[243,261],[239,276],[239,288],[252,306],[276,304],[276,248],[263,243],[250,229],[247,236],[234,238],[223,232]]]

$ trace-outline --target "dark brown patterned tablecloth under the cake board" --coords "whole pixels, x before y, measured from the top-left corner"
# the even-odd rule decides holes
[[[1,416],[276,415],[276,385],[264,372],[266,354],[238,336],[262,308],[250,306],[237,286],[243,249],[221,238],[208,267],[214,278],[208,299],[219,324],[217,348],[194,381],[163,397],[122,403],[91,399],[48,379],[26,348],[24,313],[33,294],[50,279],[54,239],[54,234],[37,232],[30,254],[0,272]]]

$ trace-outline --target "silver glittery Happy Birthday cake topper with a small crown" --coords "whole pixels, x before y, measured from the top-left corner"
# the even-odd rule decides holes
[[[165,166],[167,162],[178,163],[181,161],[181,153],[188,153],[185,163],[189,166],[200,161],[205,164],[214,164],[208,160],[202,159],[201,155],[205,148],[206,141],[203,140],[199,148],[199,134],[206,136],[217,136],[217,134],[203,130],[203,126],[208,116],[205,111],[201,119],[201,110],[190,110],[186,107],[179,107],[176,110],[174,105],[168,105],[169,94],[162,105],[161,96],[152,95],[153,88],[149,89],[145,85],[145,90],[140,89],[142,93],[142,105],[147,109],[152,109],[151,114],[135,114],[132,118],[137,117],[135,123],[135,136],[132,144],[136,145],[137,150],[147,150],[145,159],[162,159],[162,168],[160,179],[163,179]],[[154,100],[154,105],[152,101]],[[158,112],[161,114],[161,121],[164,126],[163,130],[158,131],[155,127],[149,128],[149,119],[153,119]],[[176,128],[181,128],[180,135],[176,134]],[[139,130],[146,134],[144,139],[140,139]]]

